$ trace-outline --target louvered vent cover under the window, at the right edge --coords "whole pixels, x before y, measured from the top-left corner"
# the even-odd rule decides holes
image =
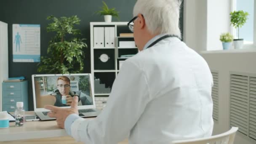
[[[229,124],[256,140],[256,74],[230,72]]]

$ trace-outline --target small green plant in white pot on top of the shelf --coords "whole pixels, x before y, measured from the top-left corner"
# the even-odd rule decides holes
[[[99,14],[100,16],[104,16],[105,22],[111,22],[112,16],[119,19],[119,16],[118,16],[119,12],[116,11],[115,8],[109,8],[104,1],[102,1],[102,3],[103,3],[103,6],[101,7],[101,11],[96,11],[95,13]]]

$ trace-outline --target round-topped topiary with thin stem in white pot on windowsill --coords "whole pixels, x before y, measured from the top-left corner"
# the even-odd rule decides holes
[[[231,25],[238,29],[238,39],[234,39],[235,49],[243,48],[243,38],[239,38],[239,27],[242,27],[245,24],[248,15],[249,14],[244,11],[233,11],[230,13]]]

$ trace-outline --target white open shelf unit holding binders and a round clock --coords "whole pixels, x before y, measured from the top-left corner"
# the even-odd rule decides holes
[[[122,38],[130,39],[130,40],[133,39],[133,37],[120,37],[119,36],[120,33],[131,33],[129,31],[129,29],[128,29],[127,24],[128,24],[128,22],[90,22],[90,33],[91,33],[90,34],[90,37],[91,37],[91,41],[90,41],[90,43],[91,43],[91,74],[92,74],[93,79],[94,79],[95,73],[97,73],[96,75],[104,75],[104,74],[106,74],[106,77],[107,77],[107,73],[112,73],[112,74],[115,73],[115,77],[116,77],[118,72],[119,72],[118,61],[120,60],[120,59],[118,59],[118,57],[119,57],[118,56],[118,51],[121,50],[121,49],[125,50],[125,51],[131,51],[132,49],[134,49],[133,51],[137,50],[136,47],[134,47],[134,48],[129,48],[129,47],[127,47],[127,48],[125,48],[125,47],[118,48],[118,40],[119,39],[122,39]],[[102,35],[104,35],[104,45],[103,46],[99,47],[99,45],[97,45],[97,43],[94,41],[94,37],[96,37],[95,38],[96,40],[99,39],[96,36],[96,35],[98,35],[98,33],[97,33],[98,29],[95,29],[95,32],[94,32],[94,27],[101,27],[99,29],[103,29],[102,27],[104,27],[104,32],[102,34],[100,34],[101,36],[99,36],[99,37],[102,38],[103,37]],[[105,33],[105,32],[107,32],[106,27],[112,27],[112,29],[115,30],[115,32],[114,32],[114,34],[115,34],[115,39],[114,39],[115,40],[115,46],[105,47],[105,45],[107,45],[106,41],[110,39],[110,38],[108,39],[108,37],[106,37],[106,35],[107,35]],[[125,29],[125,30],[124,31],[119,30],[120,28],[121,29]],[[99,43],[102,43],[102,40],[99,40]],[[114,61],[113,61],[114,65],[112,65],[111,69],[108,69],[108,68],[107,69],[106,68],[99,69],[98,66],[95,67],[96,62],[98,62],[98,61],[99,61],[98,64],[104,65],[104,62],[100,61],[100,52],[99,51],[101,51],[102,53],[104,53],[104,51],[105,52],[109,51],[109,53],[110,52],[114,53],[114,56],[111,55],[112,56],[111,58],[108,55],[109,59],[111,59],[111,60],[114,59]],[[99,57],[99,59],[98,59],[98,57]],[[125,59],[127,59],[127,58],[122,58],[121,60],[125,60]],[[107,65],[107,62],[105,62],[105,63],[106,63],[105,65]],[[113,82],[115,80],[115,77],[112,80]],[[113,78],[113,77],[109,77],[109,78]],[[97,82],[97,85],[98,84],[99,84],[99,82]],[[93,81],[93,86],[95,87],[94,81]],[[94,90],[95,89],[96,88],[94,88]],[[109,96],[109,93],[96,93],[96,90],[95,90],[95,96]]]

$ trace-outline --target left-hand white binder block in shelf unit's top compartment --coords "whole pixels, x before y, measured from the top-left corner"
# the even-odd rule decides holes
[[[104,27],[93,27],[93,47],[104,48]]]

